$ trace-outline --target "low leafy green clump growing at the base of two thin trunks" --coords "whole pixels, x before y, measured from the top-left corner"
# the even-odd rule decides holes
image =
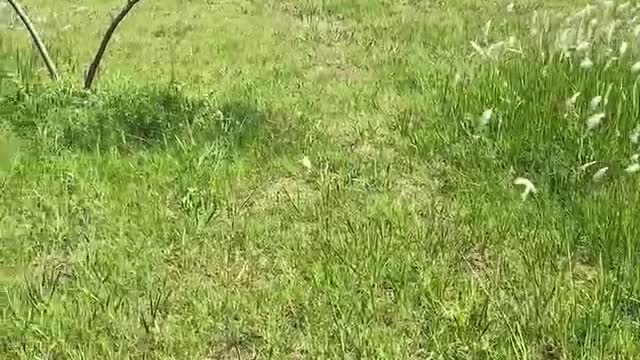
[[[4,120],[45,148],[86,150],[159,145],[193,123],[195,105],[173,88],[93,95],[71,88],[21,88],[3,101]],[[166,140],[166,139],[165,139]],[[171,139],[173,140],[173,139]]]

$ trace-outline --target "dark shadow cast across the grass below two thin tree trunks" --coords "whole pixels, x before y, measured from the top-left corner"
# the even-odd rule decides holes
[[[0,116],[21,138],[52,152],[113,148],[130,152],[211,142],[237,150],[255,149],[278,145],[278,139],[283,139],[278,134],[285,131],[295,137],[291,126],[299,130],[302,125],[249,96],[227,98],[233,100],[217,103],[189,96],[176,85],[97,94],[21,88],[0,96]],[[280,129],[284,124],[287,129]]]

